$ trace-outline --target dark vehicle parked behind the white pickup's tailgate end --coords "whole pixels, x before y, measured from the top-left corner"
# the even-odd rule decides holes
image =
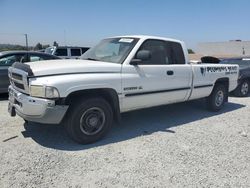
[[[205,56],[201,58],[202,63],[237,64],[240,67],[238,86],[232,92],[235,96],[246,97],[250,92],[250,57],[243,58],[215,58]]]

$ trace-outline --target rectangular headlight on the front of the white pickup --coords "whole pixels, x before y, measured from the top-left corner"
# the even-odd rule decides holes
[[[41,98],[59,98],[59,92],[55,87],[52,86],[30,86],[30,95],[32,97]]]

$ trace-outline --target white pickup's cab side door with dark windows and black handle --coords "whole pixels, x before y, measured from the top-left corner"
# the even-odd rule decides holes
[[[185,64],[181,44],[150,39],[141,50],[150,51],[151,58],[122,68],[122,111],[186,100],[192,68]]]

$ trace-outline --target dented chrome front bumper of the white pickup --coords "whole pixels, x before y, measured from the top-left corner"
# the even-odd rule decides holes
[[[9,107],[11,116],[18,114],[23,119],[44,124],[59,124],[69,106],[55,105],[54,100],[31,97],[9,87]]]

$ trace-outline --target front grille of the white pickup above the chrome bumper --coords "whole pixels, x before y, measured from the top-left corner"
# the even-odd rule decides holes
[[[9,79],[11,85],[18,91],[22,93],[29,94],[29,85],[28,85],[28,73],[17,69],[10,67],[9,68]]]

